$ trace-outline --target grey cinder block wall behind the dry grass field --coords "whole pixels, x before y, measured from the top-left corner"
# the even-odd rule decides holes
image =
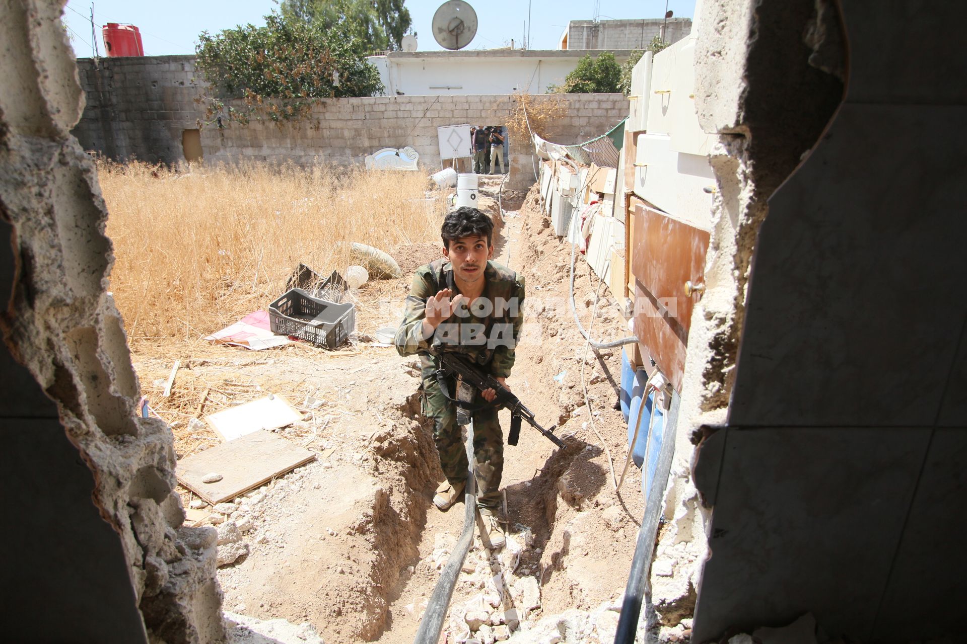
[[[112,159],[138,158],[176,163],[184,159],[182,133],[204,121],[195,101],[204,81],[195,75],[193,56],[80,59],[80,82],[87,106],[73,134],[85,150]],[[628,99],[620,94],[553,95],[567,108],[547,135],[556,143],[578,143],[615,126],[628,116]],[[363,163],[381,148],[410,146],[420,165],[437,170],[440,153],[437,126],[463,123],[504,125],[513,110],[512,96],[401,96],[331,98],[313,107],[296,123],[252,122],[248,126],[202,124],[205,159],[234,161],[242,157],[349,165]],[[511,140],[510,186],[534,181],[530,143]]]

